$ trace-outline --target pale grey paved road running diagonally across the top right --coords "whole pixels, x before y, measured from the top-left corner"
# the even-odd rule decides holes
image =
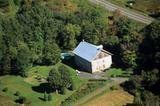
[[[109,11],[115,11],[115,10],[120,10],[122,15],[127,16],[130,19],[142,22],[144,24],[150,24],[154,19],[148,16],[141,15],[139,13],[133,12],[131,10],[122,8],[120,6],[117,6],[115,4],[112,4],[106,0],[90,0],[91,2],[95,4],[99,4],[103,7],[105,7]]]

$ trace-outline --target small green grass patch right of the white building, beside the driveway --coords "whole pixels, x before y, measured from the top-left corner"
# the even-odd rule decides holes
[[[106,70],[105,77],[129,77],[132,74],[130,71],[124,71],[118,68],[111,68]]]

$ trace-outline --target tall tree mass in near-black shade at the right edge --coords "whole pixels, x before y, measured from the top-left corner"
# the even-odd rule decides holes
[[[140,68],[152,70],[160,69],[160,21],[155,21],[144,30],[144,40],[140,45]]]

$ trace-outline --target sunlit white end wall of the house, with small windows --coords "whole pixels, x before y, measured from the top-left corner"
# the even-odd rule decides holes
[[[112,65],[112,56],[108,55],[107,57],[94,60],[92,61],[91,64],[92,64],[92,73],[108,69]]]

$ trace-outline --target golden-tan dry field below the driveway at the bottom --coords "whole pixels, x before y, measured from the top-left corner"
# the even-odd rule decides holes
[[[83,106],[125,106],[127,103],[133,103],[134,97],[124,90],[115,90],[107,92]]]

